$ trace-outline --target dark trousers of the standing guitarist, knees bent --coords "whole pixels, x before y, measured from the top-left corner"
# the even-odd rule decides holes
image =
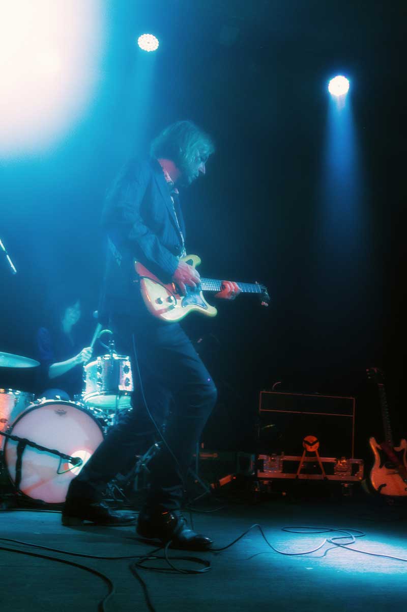
[[[178,509],[196,444],[215,405],[215,384],[177,323],[163,323],[151,316],[134,319],[116,315],[111,329],[117,353],[129,356],[132,362],[136,386],[133,410],[109,431],[79,476],[72,480],[68,498],[100,499],[109,480],[125,469],[135,455],[144,454],[157,437],[142,398],[135,346],[147,406],[157,424],[167,416],[164,437],[177,459],[162,445],[150,462],[147,504]]]

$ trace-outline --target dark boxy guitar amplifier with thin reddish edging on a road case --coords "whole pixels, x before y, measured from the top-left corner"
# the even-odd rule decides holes
[[[354,397],[261,391],[259,452],[301,455],[305,436],[316,436],[325,457],[354,456]]]

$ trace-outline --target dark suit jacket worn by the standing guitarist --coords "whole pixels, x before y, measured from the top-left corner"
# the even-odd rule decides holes
[[[175,203],[185,236],[182,211]],[[140,261],[163,283],[178,265],[182,237],[177,226],[169,187],[156,159],[131,160],[120,172],[106,198],[102,225],[108,234],[108,252],[100,318],[109,313],[133,314],[139,309],[134,261]]]

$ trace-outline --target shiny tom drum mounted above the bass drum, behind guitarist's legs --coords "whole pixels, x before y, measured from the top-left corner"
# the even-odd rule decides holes
[[[84,366],[82,401],[87,406],[103,410],[131,408],[133,390],[133,375],[128,357],[103,355]]]

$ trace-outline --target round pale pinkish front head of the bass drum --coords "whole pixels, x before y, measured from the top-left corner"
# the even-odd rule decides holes
[[[70,401],[46,400],[29,407],[15,421],[10,434],[82,459],[82,465],[74,467],[46,450],[25,447],[19,490],[47,504],[65,501],[69,483],[103,441],[97,420]],[[17,442],[10,438],[4,445],[4,459],[10,479],[15,483]]]

